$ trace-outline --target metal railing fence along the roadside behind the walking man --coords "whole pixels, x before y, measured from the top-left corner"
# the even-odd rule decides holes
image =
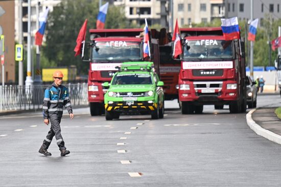
[[[0,112],[11,110],[41,110],[44,91],[49,85],[0,86]],[[87,105],[87,84],[65,85],[73,106]]]

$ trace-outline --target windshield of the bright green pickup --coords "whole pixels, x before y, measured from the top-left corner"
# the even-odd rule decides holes
[[[117,74],[112,85],[152,85],[152,77],[144,73]]]

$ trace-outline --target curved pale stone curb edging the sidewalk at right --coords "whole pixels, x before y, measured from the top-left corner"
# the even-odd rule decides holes
[[[246,121],[250,129],[252,129],[257,135],[260,135],[267,140],[275,142],[277,144],[281,144],[281,136],[277,135],[267,129],[262,128],[260,125],[256,124],[255,121],[252,119],[252,113],[254,113],[256,109],[251,110],[246,115]]]

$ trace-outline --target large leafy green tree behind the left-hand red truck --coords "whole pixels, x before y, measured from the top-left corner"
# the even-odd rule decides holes
[[[48,17],[46,43],[42,47],[42,67],[76,65],[79,74],[86,74],[89,64],[74,57],[76,38],[80,28],[88,19],[86,40],[89,29],[96,28],[99,1],[64,0]],[[109,5],[105,28],[125,28],[128,25],[124,8]],[[48,66],[49,65],[49,66]]]

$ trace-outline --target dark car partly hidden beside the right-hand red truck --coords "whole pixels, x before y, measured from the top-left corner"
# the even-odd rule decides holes
[[[251,77],[246,78],[247,85],[247,105],[248,108],[256,108],[256,86],[255,82],[252,81]]]

